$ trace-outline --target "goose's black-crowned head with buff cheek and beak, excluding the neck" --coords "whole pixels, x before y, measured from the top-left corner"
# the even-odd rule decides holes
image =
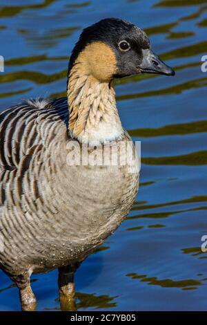
[[[96,77],[100,74],[100,79],[105,75],[108,80],[139,73],[175,75],[172,68],[152,53],[144,30],[121,19],[103,19],[84,29],[72,51],[69,71],[84,52],[88,66]]]

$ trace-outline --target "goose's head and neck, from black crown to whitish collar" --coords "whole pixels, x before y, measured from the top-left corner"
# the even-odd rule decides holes
[[[84,29],[68,68],[72,138],[96,145],[121,139],[124,129],[111,81],[142,73],[175,74],[152,52],[141,28],[110,18]]]

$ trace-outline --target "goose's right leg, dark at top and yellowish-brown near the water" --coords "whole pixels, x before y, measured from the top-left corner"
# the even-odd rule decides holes
[[[75,304],[75,271],[80,263],[74,263],[70,266],[59,268],[58,286],[59,286],[59,300],[61,310],[76,311]]]

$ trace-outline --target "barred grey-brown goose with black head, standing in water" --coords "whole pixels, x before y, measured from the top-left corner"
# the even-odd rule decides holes
[[[61,309],[75,308],[77,268],[130,211],[139,169],[83,158],[131,142],[112,80],[142,73],[175,74],[144,30],[103,19],[83,29],[72,50],[67,97],[23,100],[1,111],[0,268],[19,288],[21,310],[37,307],[30,276],[56,268]],[[78,153],[81,163],[68,163]]]

